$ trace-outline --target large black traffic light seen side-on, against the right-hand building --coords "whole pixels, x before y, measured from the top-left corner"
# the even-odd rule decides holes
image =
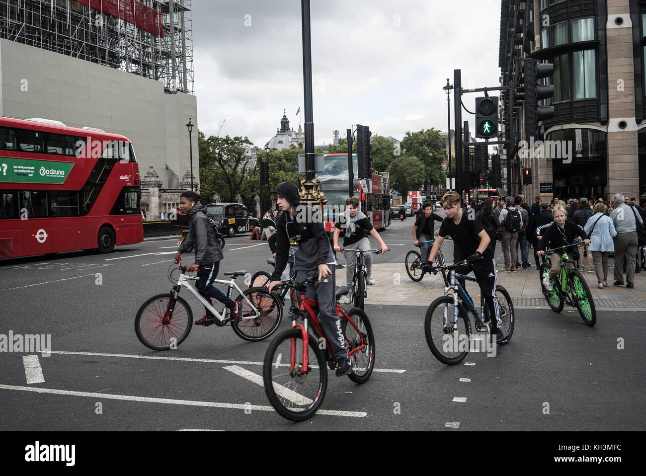
[[[554,74],[552,63],[538,63],[536,59],[526,59],[523,68],[525,83],[525,140],[543,140],[538,123],[554,117],[554,106],[539,106],[538,101],[554,96],[553,85],[539,85],[538,80]]]

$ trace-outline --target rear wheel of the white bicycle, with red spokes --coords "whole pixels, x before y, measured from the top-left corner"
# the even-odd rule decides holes
[[[282,320],[282,305],[278,298],[273,293],[267,293],[266,287],[250,287],[242,291],[242,294],[258,309],[260,316],[244,319],[245,316],[256,315],[256,311],[242,295],[238,295],[236,301],[240,302],[240,319],[238,324],[231,321],[234,333],[250,342],[264,340],[275,333]]]

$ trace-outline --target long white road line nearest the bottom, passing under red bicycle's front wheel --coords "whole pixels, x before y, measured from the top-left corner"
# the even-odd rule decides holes
[[[136,397],[135,395],[114,395],[111,393],[58,390],[55,388],[22,387],[17,385],[0,384],[0,389],[51,393],[53,395],[71,395],[73,397],[107,398],[109,400],[125,400],[129,402],[163,403],[171,405],[188,405],[211,408],[233,408],[239,410],[250,409],[260,411],[275,411],[271,406],[246,405],[240,403],[202,402],[199,400],[176,400],[173,398]],[[368,413],[364,411],[318,410],[317,415],[333,415],[337,417],[366,417],[368,416]]]

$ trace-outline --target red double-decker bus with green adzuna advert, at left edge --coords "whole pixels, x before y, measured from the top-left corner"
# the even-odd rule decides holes
[[[0,116],[0,258],[143,242],[140,185],[124,136]]]

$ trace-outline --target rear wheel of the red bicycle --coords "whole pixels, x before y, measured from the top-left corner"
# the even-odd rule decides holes
[[[355,352],[352,358],[353,368],[348,377],[357,384],[368,382],[372,369],[375,367],[375,336],[372,333],[370,320],[364,311],[353,307],[348,313],[349,318],[355,323],[355,329],[349,322],[346,323],[346,347],[348,353],[365,344],[362,349]]]

